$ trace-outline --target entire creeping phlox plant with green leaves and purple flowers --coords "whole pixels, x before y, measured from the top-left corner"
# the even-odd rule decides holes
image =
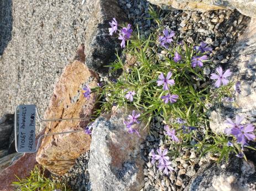
[[[152,10],[151,14],[154,14]],[[160,20],[156,22],[159,24]],[[179,150],[186,147],[194,147],[201,156],[211,152],[218,156],[218,161],[223,157],[227,160],[230,152],[245,157],[244,147],[252,148],[248,141],[255,140],[252,124],[242,125],[243,118],[237,116],[236,122],[227,119],[231,127],[223,134],[215,134],[208,128],[208,106],[232,102],[232,96],[241,92],[239,82],[229,81],[230,69],[223,71],[222,67],[217,67],[210,79],[204,75],[204,65],[211,63],[211,46],[205,42],[198,46],[178,42],[175,32],[168,28],[159,27],[145,39],[139,30],[133,32],[130,24],[119,30],[115,18],[109,24],[109,35],[119,32],[123,53],[136,62],[127,68],[117,55],[111,64],[112,72],[122,70],[123,73],[118,79],[98,85],[100,97],[106,100],[99,113],[111,111],[112,106],[135,106],[138,112],[130,113],[124,125],[128,133],[138,136],[140,129],[135,129],[133,124],[143,121],[149,127],[154,116],[162,117],[169,140],[166,146],[170,145],[173,150],[159,148],[158,154],[152,150],[150,156],[152,162],[158,161],[159,170],[164,170],[165,174],[173,170],[167,155],[177,156]],[[164,56],[159,52],[165,52]],[[89,97],[90,88],[84,90],[85,97]],[[91,134],[90,126],[86,133]]]

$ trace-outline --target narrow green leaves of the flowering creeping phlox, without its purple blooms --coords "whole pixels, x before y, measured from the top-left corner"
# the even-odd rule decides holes
[[[159,14],[153,8],[149,9],[150,19],[154,19],[158,26],[161,25]],[[132,56],[136,59],[133,66],[126,67],[123,60],[118,56],[114,63],[110,65],[112,72],[122,70],[122,75],[117,79],[117,83],[107,81],[103,88],[98,92],[105,101],[101,102],[101,112],[110,112],[113,105],[117,107],[132,105],[137,107],[140,113],[140,119],[146,122],[146,127],[154,116],[164,118],[164,123],[171,129],[175,129],[177,137],[181,141],[176,143],[169,141],[170,154],[179,155],[182,148],[194,148],[200,156],[210,152],[218,158],[228,159],[230,152],[241,152],[240,144],[237,144],[232,138],[223,134],[214,134],[209,128],[209,119],[207,112],[209,105],[220,105],[224,97],[232,97],[231,87],[234,82],[229,82],[226,86],[213,88],[212,81],[203,73],[206,64],[210,66],[211,61],[204,61],[202,68],[191,67],[191,60],[194,56],[203,56],[206,53],[196,52],[193,45],[187,45],[185,42],[172,42],[168,49],[159,46],[158,38],[162,35],[163,28],[151,31],[147,39],[140,36],[137,27],[137,34],[127,43],[123,54]],[[174,54],[178,52],[182,59],[180,62],[174,62]],[[161,53],[161,54],[160,54]],[[172,72],[171,79],[174,79],[175,85],[170,86],[169,90],[163,90],[163,86],[157,86],[156,81],[160,73],[165,76]],[[133,101],[126,99],[128,91],[135,91]],[[167,94],[178,95],[174,103],[164,103],[161,96]],[[186,121],[185,124],[178,124],[176,118]],[[184,133],[182,128],[195,127],[188,133]],[[150,131],[150,129],[149,129]],[[167,138],[167,136],[166,136]],[[233,146],[228,146],[228,141]]]

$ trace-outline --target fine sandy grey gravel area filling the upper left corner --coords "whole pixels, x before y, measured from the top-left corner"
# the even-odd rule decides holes
[[[89,0],[0,0],[0,116],[22,103],[44,113],[56,80],[85,41],[92,6]]]

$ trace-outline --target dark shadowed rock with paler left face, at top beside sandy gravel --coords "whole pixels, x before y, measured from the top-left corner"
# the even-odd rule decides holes
[[[106,74],[109,63],[113,62],[116,53],[121,50],[121,41],[108,32],[109,21],[116,18],[121,24],[127,21],[127,16],[119,7],[117,0],[96,0],[91,17],[88,20],[85,36],[85,63],[101,74]]]

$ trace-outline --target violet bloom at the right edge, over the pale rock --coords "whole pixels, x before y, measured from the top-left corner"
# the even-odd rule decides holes
[[[255,135],[253,134],[253,132],[253,124],[248,124],[246,126],[241,126],[240,128],[231,129],[231,134],[233,134],[237,138],[237,142],[241,144],[245,144],[247,140],[254,140]]]

